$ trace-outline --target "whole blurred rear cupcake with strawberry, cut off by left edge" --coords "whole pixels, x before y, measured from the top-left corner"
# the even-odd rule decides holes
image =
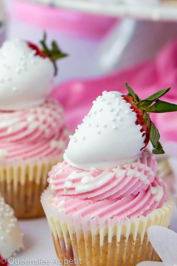
[[[41,41],[43,50],[24,40],[0,48],[0,190],[17,218],[44,215],[40,195],[47,173],[61,161],[68,129],[60,104],[48,95],[64,56]]]

